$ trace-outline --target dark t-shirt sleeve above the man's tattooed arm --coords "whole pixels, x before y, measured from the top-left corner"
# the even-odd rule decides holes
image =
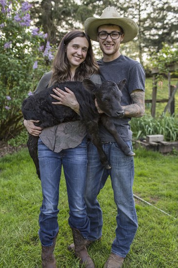
[[[137,63],[130,69],[128,91],[129,94],[133,90],[140,89],[145,91],[145,71],[140,63]]]

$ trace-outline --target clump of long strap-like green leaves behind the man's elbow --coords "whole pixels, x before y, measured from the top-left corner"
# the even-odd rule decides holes
[[[165,141],[178,140],[178,119],[173,116],[132,118],[131,130],[136,138],[162,134]]]

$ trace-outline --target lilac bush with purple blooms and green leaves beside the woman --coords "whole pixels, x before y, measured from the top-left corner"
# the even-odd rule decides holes
[[[52,47],[47,33],[35,28],[29,2],[0,0],[0,140],[19,134],[21,103],[50,68]]]

